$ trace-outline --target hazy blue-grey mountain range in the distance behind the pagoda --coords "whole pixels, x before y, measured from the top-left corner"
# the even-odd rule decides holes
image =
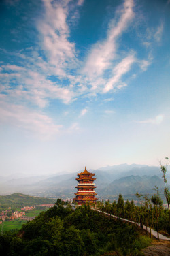
[[[95,172],[96,191],[100,198],[114,199],[120,193],[131,195],[131,197],[134,197],[136,192],[151,194],[154,186],[158,186],[160,193],[163,193],[164,184],[160,167],[123,164],[88,171]],[[73,198],[76,192],[77,181],[75,178],[78,172],[22,178],[1,177],[0,194],[20,192],[41,197]],[[167,179],[169,182],[168,174]]]

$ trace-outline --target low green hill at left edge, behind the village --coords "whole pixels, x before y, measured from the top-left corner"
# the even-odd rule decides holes
[[[12,195],[0,195],[0,210],[5,210],[8,207],[22,208],[23,206],[35,206],[35,204],[54,204],[56,199],[44,197],[31,197],[21,193]]]

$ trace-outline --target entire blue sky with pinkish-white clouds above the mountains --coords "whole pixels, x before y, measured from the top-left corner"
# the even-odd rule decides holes
[[[2,175],[169,157],[169,0],[4,0],[0,12]]]

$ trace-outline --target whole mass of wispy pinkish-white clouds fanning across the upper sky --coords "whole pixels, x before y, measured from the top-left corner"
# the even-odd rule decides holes
[[[18,52],[0,49],[3,50],[3,54],[12,57],[11,62],[7,65],[1,63],[0,67],[1,92],[4,95],[1,97],[1,122],[10,122],[11,119],[16,125],[29,129],[32,120],[34,128],[30,129],[40,129],[42,133],[46,133],[49,126],[50,133],[56,134],[65,128],[62,125],[55,125],[55,122],[44,114],[44,109],[51,100],[57,99],[69,104],[76,99],[95,97],[97,93],[120,90],[127,86],[124,75],[131,71],[133,65],[139,65],[142,71],[145,71],[152,63],[152,59],[137,59],[137,52],[133,50],[119,51],[118,39],[129,29],[135,17],[133,0],[125,0],[118,8],[115,18],[108,22],[105,39],[90,47],[84,61],[76,52],[75,42],[71,42],[69,22],[70,15],[74,16],[74,11],[74,18],[78,18],[78,10],[84,1],[42,1],[44,7],[36,20],[36,47],[20,49]],[[160,42],[162,33],[163,23],[154,31],[154,39],[157,42]],[[107,97],[103,102],[113,100],[113,95]],[[12,110],[8,106],[11,106]],[[106,110],[105,114],[112,114],[110,111]],[[78,117],[84,116],[87,112],[88,108],[84,108]],[[24,114],[28,121],[24,120]],[[73,129],[76,130],[76,127],[77,124],[73,125]]]

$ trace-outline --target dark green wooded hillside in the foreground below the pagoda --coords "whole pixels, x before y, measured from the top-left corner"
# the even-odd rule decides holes
[[[0,253],[8,256],[143,255],[149,238],[135,225],[109,219],[90,206],[74,212],[56,205],[22,225],[18,234],[0,236]]]

